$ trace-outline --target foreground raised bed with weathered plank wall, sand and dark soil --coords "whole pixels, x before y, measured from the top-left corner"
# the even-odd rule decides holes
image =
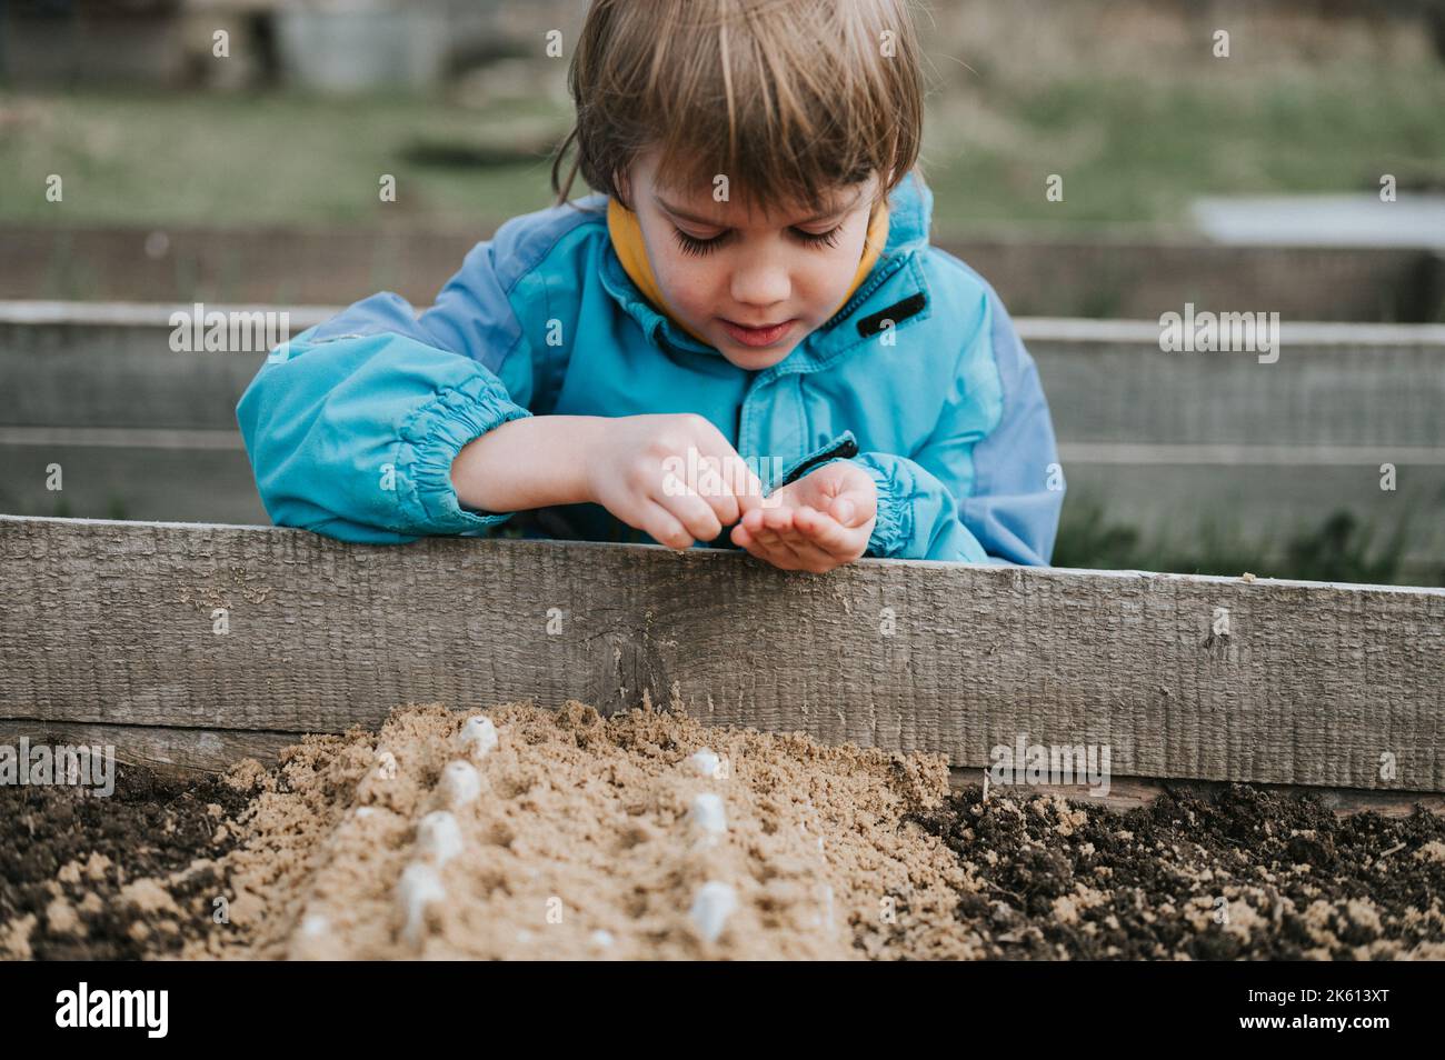
[[[131,763],[0,786],[10,956],[1445,956],[1445,591],[14,517],[0,572],[0,744]]]

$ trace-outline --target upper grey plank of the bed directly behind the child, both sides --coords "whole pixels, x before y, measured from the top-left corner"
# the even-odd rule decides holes
[[[290,334],[335,306],[288,312]],[[263,352],[171,349],[192,306],[0,303],[0,426],[236,429]],[[1311,449],[1397,451],[1445,462],[1445,325],[1285,322],[1274,364],[1248,354],[1165,354],[1150,321],[1020,319],[1055,429],[1074,446],[1225,445],[1319,462]],[[1081,451],[1087,458],[1088,449]],[[1231,459],[1212,462],[1228,466]]]

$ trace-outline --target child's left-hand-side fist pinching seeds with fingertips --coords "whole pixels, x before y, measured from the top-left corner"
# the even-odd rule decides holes
[[[705,416],[618,416],[584,449],[591,500],[672,549],[711,542],[763,484]]]

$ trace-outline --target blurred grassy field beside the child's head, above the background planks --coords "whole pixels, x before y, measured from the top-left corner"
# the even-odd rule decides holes
[[[582,0],[465,4],[470,36],[436,35],[449,46],[435,61],[435,84],[384,84],[390,68],[381,62],[379,84],[367,84],[354,69],[363,49],[348,56],[357,84],[319,87],[329,92],[286,75],[277,29],[257,35],[236,25],[231,58],[215,59],[205,30],[225,25],[212,13],[224,4],[185,17],[184,6],[152,7],[175,9],[191,26],[172,45],[191,42],[172,84],[146,84],[162,81],[165,66],[149,78],[107,78],[101,59],[116,45],[94,16],[87,33],[65,33],[58,16],[23,20],[25,35],[12,25],[0,168],[17,186],[42,186],[64,170],[69,194],[61,211],[39,195],[6,195],[0,221],[475,225],[551,201],[546,156],[569,129],[571,103],[565,58],[542,56],[540,42],[553,26],[571,40]],[[332,12],[329,22],[342,26],[376,4],[358,7],[301,6]],[[444,4],[420,7],[447,17]],[[77,19],[88,9],[79,4]],[[1260,9],[1277,10],[1266,17]],[[499,12],[496,23],[510,12],[509,29],[478,17],[487,10]],[[1396,175],[1405,192],[1445,192],[1445,75],[1429,10],[936,3],[923,36],[932,79],[925,172],[938,224],[1178,231],[1204,195],[1374,195],[1381,173]],[[412,22],[376,33],[403,35]],[[1231,33],[1228,58],[1212,56],[1217,26]],[[257,38],[269,58],[253,55],[247,66],[244,56],[263,46]],[[17,61],[22,46],[42,45],[46,62]],[[236,65],[249,72],[228,74]],[[397,176],[394,204],[379,202],[379,173]],[[1066,178],[1062,204],[1042,194],[1048,173]]]

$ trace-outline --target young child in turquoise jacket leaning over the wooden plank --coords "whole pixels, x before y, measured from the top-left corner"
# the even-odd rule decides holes
[[[907,0],[594,0],[556,205],[241,397],[272,518],[1048,563],[1048,404],[993,289],[928,243],[918,64]]]

